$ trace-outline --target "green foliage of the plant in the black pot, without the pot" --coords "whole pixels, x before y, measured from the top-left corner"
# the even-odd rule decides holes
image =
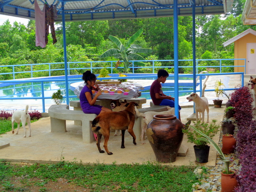
[[[201,123],[198,121],[195,124],[198,130],[207,135],[209,138],[213,138],[217,132],[219,131],[220,126],[216,124],[216,120],[212,120],[211,123]],[[190,126],[191,127],[191,126]],[[207,142],[200,140],[198,138],[202,137],[197,131],[191,129],[183,129],[183,133],[187,134],[187,141],[194,143],[197,148],[205,148],[207,146]]]

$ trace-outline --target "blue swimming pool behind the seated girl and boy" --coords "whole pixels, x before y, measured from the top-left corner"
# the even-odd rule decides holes
[[[110,74],[112,77],[118,76],[118,74]],[[133,74],[135,76],[142,76],[142,74]],[[149,74],[146,74],[147,76]],[[154,75],[154,74],[150,74]],[[62,79],[63,81],[54,81],[54,79]],[[66,95],[66,89],[65,89],[65,76],[58,76],[58,77],[48,77],[48,78],[35,78],[35,79],[52,79],[50,82],[44,82],[44,96],[45,97],[51,97],[54,92],[56,92],[58,89],[63,91],[63,95]],[[75,76],[69,76],[69,78],[79,78],[77,79],[77,82],[81,81],[81,75],[75,75]],[[136,78],[135,78],[136,79]],[[149,79],[149,78],[147,78]],[[154,79],[154,78],[150,78]],[[169,78],[168,78],[169,79]],[[171,79],[171,78],[170,78]],[[182,78],[182,79],[192,79],[192,78]],[[75,83],[76,81],[69,82],[68,87],[70,88],[70,84]],[[191,81],[192,82],[192,81]],[[151,83],[149,84],[151,85]],[[142,91],[142,97],[145,97],[147,99],[150,99],[149,95],[149,88],[150,86],[145,86],[145,89]],[[193,90],[193,84],[192,83],[179,83],[179,91],[182,90]],[[164,83],[163,84],[163,91],[174,91],[174,83]],[[167,93],[168,95],[174,95],[173,93]],[[188,93],[182,93],[179,92],[179,96],[187,95]],[[78,100],[76,95],[74,94],[74,91],[72,89],[69,89],[69,100]],[[41,82],[33,82],[33,83],[0,83],[0,103],[6,103],[7,101],[2,99],[3,97],[7,98],[19,98],[19,100],[13,99],[13,100],[7,100],[10,105],[15,105],[15,103],[30,103],[30,104],[41,104],[42,99],[39,97],[42,97],[42,90],[41,90]],[[33,99],[26,99],[26,98],[32,98]],[[64,100],[63,103],[66,103]],[[54,104],[53,100],[50,98],[45,99],[45,104]]]

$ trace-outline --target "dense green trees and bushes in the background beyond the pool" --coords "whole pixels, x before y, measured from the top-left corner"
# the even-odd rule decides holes
[[[196,17],[196,59],[232,59],[234,58],[234,45],[226,47],[223,42],[239,33],[256,26],[243,25],[241,14],[245,0],[234,0],[231,13],[226,15],[201,15]],[[55,23],[58,42],[52,44],[52,38],[46,48],[35,46],[35,21],[30,20],[27,26],[6,20],[0,25],[0,66],[22,65],[33,63],[59,63],[63,58],[63,29],[61,23]],[[144,58],[173,59],[173,17],[145,18],[132,20],[104,20],[67,22],[67,60],[68,62],[82,61],[115,61],[113,57],[98,58],[110,48],[117,48],[108,39],[109,35],[117,37],[125,43],[137,30],[143,29],[143,34],[134,43],[143,48],[154,50],[151,54],[141,54]],[[178,59],[192,59],[192,17],[178,17]],[[72,64],[71,67],[89,67],[85,63]],[[95,64],[106,67],[106,64]],[[148,65],[145,63],[145,65]],[[163,65],[157,63],[156,65]],[[165,63],[173,66],[173,63]],[[191,66],[191,62],[180,62],[179,65]],[[212,61],[200,65],[218,65]],[[233,61],[225,61],[223,65],[233,65]],[[48,65],[34,66],[33,70],[46,70]],[[52,64],[51,68],[61,69],[52,72],[54,76],[63,75],[62,64]],[[11,67],[0,67],[0,73],[11,72]],[[15,69],[17,70],[17,69]],[[18,71],[30,70],[28,66],[19,66]],[[141,71],[143,71],[142,69]],[[179,73],[191,73],[189,68],[179,68]],[[205,70],[201,68],[200,70]],[[223,72],[232,72],[233,68],[223,68]],[[150,69],[145,69],[150,72]],[[170,71],[171,72],[171,71]],[[213,68],[212,72],[217,72]],[[72,70],[71,74],[82,74],[82,71]],[[16,74],[15,78],[29,77],[28,73]],[[41,71],[33,74],[35,77],[48,76],[48,72]],[[11,75],[0,77],[1,80],[12,79]]]

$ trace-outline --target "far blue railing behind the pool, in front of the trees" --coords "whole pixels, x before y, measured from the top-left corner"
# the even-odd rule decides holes
[[[236,61],[236,60],[242,60],[244,61],[244,65],[226,65],[226,64],[223,64],[224,61],[226,62],[233,62]],[[192,62],[193,60],[192,59],[187,59],[187,60],[178,60],[179,61],[179,65],[178,68],[193,68],[192,66]],[[67,72],[68,72],[68,75],[72,74],[72,70],[91,70],[91,72],[93,72],[93,70],[95,69],[101,69],[101,68],[109,68],[111,69],[111,73],[113,73],[113,69],[115,69],[115,63],[117,61],[85,61],[85,62],[68,62],[67,64]],[[141,60],[140,62],[144,62],[144,63],[152,63],[152,66],[134,66],[134,62],[135,61],[130,61],[132,63],[132,66],[130,67],[131,70],[132,70],[132,73],[135,72],[136,69],[139,69],[139,68],[149,68],[151,69],[152,68],[152,73],[156,73],[156,68],[159,69],[159,68],[174,68],[174,66],[171,66],[173,65],[173,62],[174,60]],[[155,63],[156,62],[161,62],[162,65],[161,66],[156,66]],[[191,66],[182,66],[182,62],[191,62]],[[200,65],[200,63],[207,63],[207,62],[215,62],[215,63],[219,63],[218,65],[212,65],[212,66],[203,66],[203,65]],[[72,64],[87,64],[88,67],[70,67]],[[107,65],[106,67],[96,67],[95,65],[98,64],[98,63],[107,63],[109,65]],[[164,65],[166,64],[166,65]],[[48,65],[47,66],[47,69],[45,70],[34,70],[33,69],[33,66],[37,66],[37,65]],[[63,68],[53,68],[52,65],[63,65]],[[26,71],[21,71],[21,67],[29,67],[28,69],[26,69]],[[2,68],[8,68],[10,69],[11,68],[11,72],[5,72],[5,73],[1,73],[1,71],[3,70]],[[219,68],[219,72],[222,73],[222,70],[223,68],[225,67],[242,67],[244,69],[244,72],[246,74],[246,59],[196,59],[196,73],[198,73],[198,69],[199,68]],[[45,67],[46,68],[46,67]],[[119,67],[119,68],[122,68],[122,67]],[[52,76],[52,72],[54,71],[64,71],[65,68],[64,68],[64,63],[37,63],[37,64],[23,64],[23,65],[4,65],[4,66],[0,66],[0,75],[8,75],[8,74],[11,74],[12,75],[12,79],[15,79],[15,74],[20,74],[20,73],[30,73],[30,78],[33,78],[33,73],[39,73],[39,72],[47,72],[47,75],[45,76]],[[56,75],[53,75],[53,76],[56,76]],[[37,75],[36,77],[41,77],[39,75]]]

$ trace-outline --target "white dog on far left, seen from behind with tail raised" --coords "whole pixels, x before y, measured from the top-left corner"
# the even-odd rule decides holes
[[[11,116],[11,128],[13,130],[14,133],[14,122],[16,122],[18,124],[18,128],[15,134],[19,133],[19,128],[20,128],[20,122],[22,123],[22,127],[24,129],[25,135],[24,137],[26,137],[26,129],[25,129],[25,125],[26,123],[28,124],[28,128],[29,128],[29,137],[31,137],[31,128],[30,128],[30,115],[28,114],[28,105],[26,105],[26,110],[24,111],[14,111],[12,116]]]

